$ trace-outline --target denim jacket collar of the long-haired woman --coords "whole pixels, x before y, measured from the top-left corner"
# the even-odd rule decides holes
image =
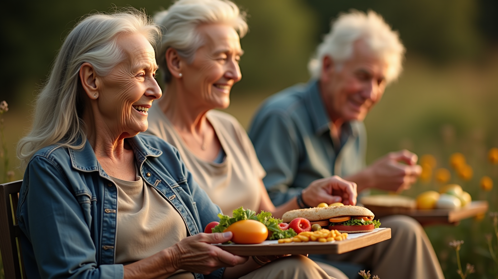
[[[131,145],[138,165],[141,165],[147,156],[158,157],[162,154],[161,150],[148,145],[139,136],[125,140],[128,140],[128,143]],[[107,176],[97,161],[95,152],[88,139],[86,140],[85,146],[81,149],[69,148],[69,156],[71,157],[71,164],[73,168],[85,172],[98,170],[102,175]]]

